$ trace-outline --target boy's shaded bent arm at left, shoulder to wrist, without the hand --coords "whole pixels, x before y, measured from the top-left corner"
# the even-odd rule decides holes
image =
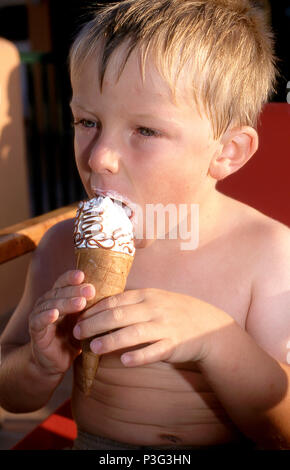
[[[62,376],[44,374],[32,360],[28,317],[36,300],[67,268],[57,260],[63,223],[52,227],[33,253],[22,299],[0,338],[0,405],[8,411],[28,412],[44,406]]]

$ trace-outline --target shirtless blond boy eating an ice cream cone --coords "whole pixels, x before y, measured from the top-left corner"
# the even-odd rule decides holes
[[[118,2],[80,31],[70,71],[88,196],[198,204],[199,245],[136,239],[127,290],[82,313],[73,221],[49,230],[1,339],[1,405],[42,407],[74,363],[75,449],[289,448],[289,230],[215,189],[258,147],[263,19],[240,0]],[[103,333],[86,397],[79,340]]]

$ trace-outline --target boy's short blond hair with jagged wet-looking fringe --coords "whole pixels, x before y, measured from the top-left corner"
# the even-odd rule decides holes
[[[72,77],[100,43],[101,89],[108,62],[121,44],[126,43],[127,54],[119,76],[136,47],[142,73],[150,51],[173,91],[186,67],[194,103],[203,106],[215,139],[230,125],[256,127],[274,91],[272,33],[261,11],[247,0],[124,0],[96,8],[71,46]]]

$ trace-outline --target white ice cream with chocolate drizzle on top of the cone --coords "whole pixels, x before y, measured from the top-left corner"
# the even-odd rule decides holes
[[[130,209],[109,197],[98,196],[79,204],[75,218],[76,248],[105,248],[134,256]]]

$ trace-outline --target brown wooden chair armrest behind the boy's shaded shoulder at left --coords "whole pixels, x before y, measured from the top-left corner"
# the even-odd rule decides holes
[[[57,222],[75,216],[77,203],[0,230],[0,264],[33,251]]]

